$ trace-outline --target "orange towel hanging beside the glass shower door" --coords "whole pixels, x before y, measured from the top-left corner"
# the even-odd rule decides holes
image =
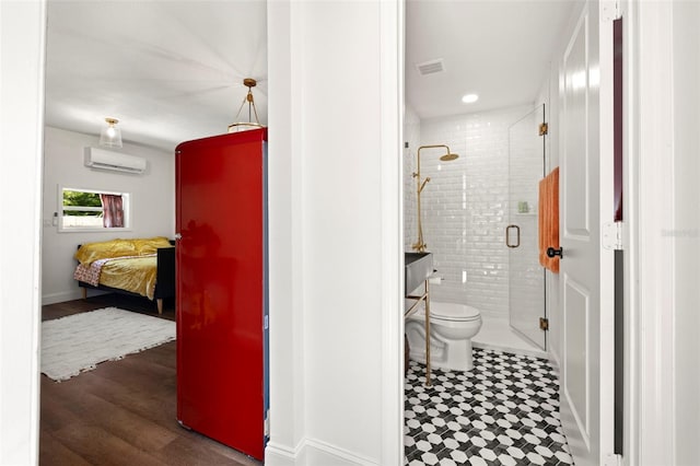
[[[539,264],[559,273],[559,257],[548,257],[548,247],[559,249],[559,167],[539,182]]]

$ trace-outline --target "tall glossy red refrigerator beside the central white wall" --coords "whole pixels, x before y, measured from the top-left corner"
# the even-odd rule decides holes
[[[265,129],[176,149],[177,419],[262,458]]]

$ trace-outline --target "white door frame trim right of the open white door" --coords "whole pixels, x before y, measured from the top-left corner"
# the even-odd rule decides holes
[[[625,23],[625,465],[675,454],[673,3],[621,2]],[[663,195],[655,195],[663,194]],[[665,312],[667,311],[667,312]]]

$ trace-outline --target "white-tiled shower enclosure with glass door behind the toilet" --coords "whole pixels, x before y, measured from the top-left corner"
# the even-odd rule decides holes
[[[538,260],[537,194],[542,178],[544,107],[518,105],[407,125],[405,144],[405,246],[419,237],[417,152],[447,144],[459,158],[421,151],[421,230],[438,282],[434,302],[466,304],[481,313],[472,340],[485,348],[539,353],[546,347],[544,271]],[[520,203],[518,203],[520,202]],[[520,211],[518,211],[520,207]],[[509,225],[514,225],[510,226]],[[508,247],[509,242],[517,247]]]

